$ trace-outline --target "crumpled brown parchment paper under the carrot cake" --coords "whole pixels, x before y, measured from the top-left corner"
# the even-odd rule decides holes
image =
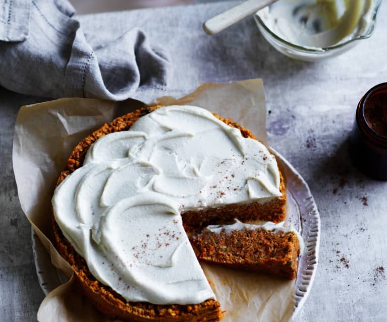
[[[180,99],[161,97],[155,104],[197,105],[239,122],[263,143],[266,107],[260,79],[226,84],[206,83]],[[49,293],[40,305],[39,322],[107,322],[73,287],[70,266],[53,247],[51,196],[73,148],[114,117],[140,106],[137,101],[68,98],[23,106],[16,120],[13,164],[19,200],[54,266],[69,282]],[[202,265],[223,321],[288,321],[295,303],[295,283],[256,273]]]

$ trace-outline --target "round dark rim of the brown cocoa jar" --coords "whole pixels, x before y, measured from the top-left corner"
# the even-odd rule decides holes
[[[364,107],[367,103],[368,98],[370,98],[371,96],[381,91],[385,92],[387,95],[387,82],[375,85],[364,94],[364,96],[361,98],[359,105],[357,107],[356,122],[358,124],[360,131],[367,138],[369,138],[374,144],[377,144],[383,148],[387,148],[387,137],[384,137],[379,133],[377,133],[376,131],[374,131],[373,128],[369,126],[364,114]]]

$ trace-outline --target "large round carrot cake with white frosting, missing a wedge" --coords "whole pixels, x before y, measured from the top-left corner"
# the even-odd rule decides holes
[[[285,217],[275,157],[194,106],[152,107],[84,139],[52,198],[61,254],[96,307],[133,321],[215,321],[222,310],[186,231]]]

